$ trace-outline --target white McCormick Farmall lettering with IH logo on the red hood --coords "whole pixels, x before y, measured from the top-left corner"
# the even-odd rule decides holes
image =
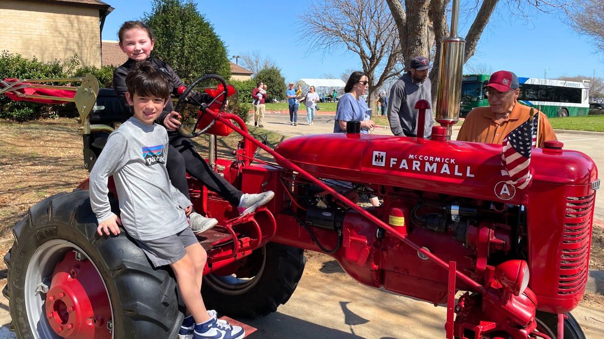
[[[443,174],[446,176],[473,178],[470,166],[459,165],[456,159],[425,154],[406,154],[402,157],[388,157],[386,152],[373,151],[374,166],[388,166],[398,170]]]

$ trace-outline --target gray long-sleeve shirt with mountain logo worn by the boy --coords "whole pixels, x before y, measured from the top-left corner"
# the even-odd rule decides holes
[[[165,128],[130,118],[111,135],[90,173],[90,203],[98,223],[112,217],[107,182],[114,176],[121,221],[132,238],[164,238],[188,227],[191,201],[172,186],[165,169]]]

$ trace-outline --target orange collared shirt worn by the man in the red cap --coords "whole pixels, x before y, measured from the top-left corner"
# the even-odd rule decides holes
[[[495,113],[490,106],[477,107],[466,116],[457,140],[501,144],[511,131],[527,121],[528,116],[530,116],[530,107],[516,101],[512,112],[500,125],[495,121]],[[556,133],[551,128],[547,116],[539,112],[539,147],[543,147],[543,142],[548,140],[557,140]]]

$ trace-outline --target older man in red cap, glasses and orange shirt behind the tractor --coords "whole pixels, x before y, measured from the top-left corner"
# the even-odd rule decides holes
[[[477,107],[468,113],[457,140],[501,144],[511,131],[530,116],[530,107],[519,104],[516,100],[520,93],[519,87],[516,74],[509,71],[493,73],[489,83],[484,86],[484,95],[490,106]],[[539,112],[539,147],[548,140],[557,140],[556,133],[545,114]]]

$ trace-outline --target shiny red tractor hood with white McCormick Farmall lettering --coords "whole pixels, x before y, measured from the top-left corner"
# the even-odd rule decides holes
[[[507,180],[501,145],[333,133],[287,139],[275,151],[318,178],[520,201],[520,194],[495,194]],[[533,149],[530,168],[533,183],[585,185],[597,178],[593,160],[578,151]]]

